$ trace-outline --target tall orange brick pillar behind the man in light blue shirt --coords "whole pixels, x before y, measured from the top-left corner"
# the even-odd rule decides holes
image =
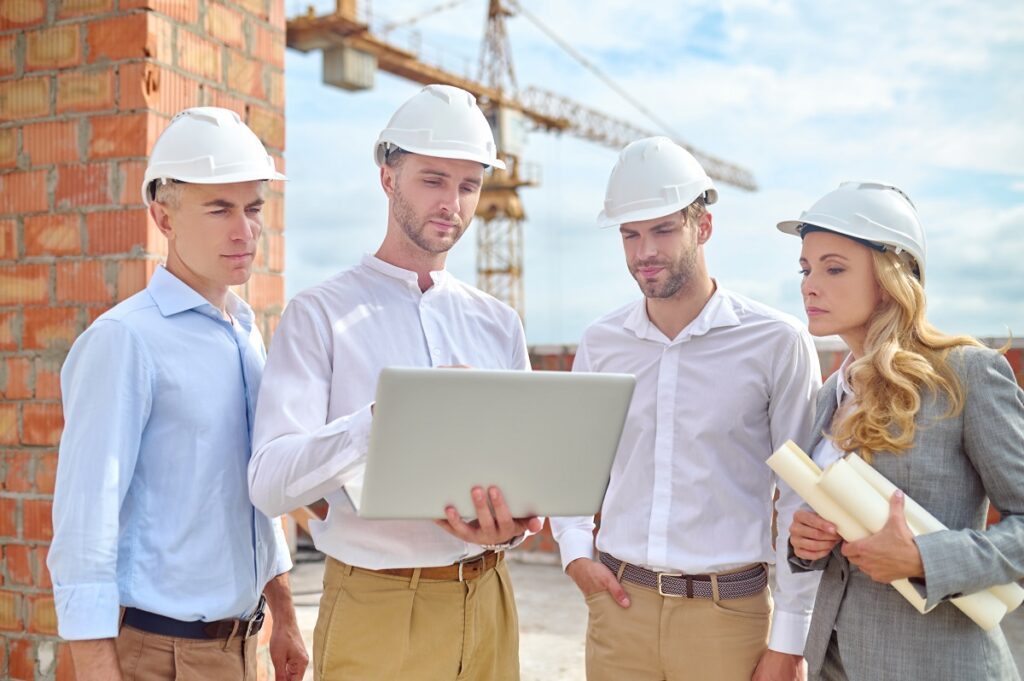
[[[210,104],[239,112],[284,168],[284,0],[0,0],[0,679],[73,678],[45,566],[58,375],[166,255],[139,197],[146,155],[175,112]],[[281,189],[240,291],[267,337],[284,303]]]

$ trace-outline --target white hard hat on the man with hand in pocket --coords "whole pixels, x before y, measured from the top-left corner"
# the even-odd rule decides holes
[[[651,220],[681,211],[701,196],[708,205],[718,201],[715,185],[693,155],[668,137],[645,137],[618,155],[597,224]]]

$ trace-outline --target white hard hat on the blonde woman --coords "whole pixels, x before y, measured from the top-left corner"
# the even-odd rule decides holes
[[[813,228],[835,231],[878,250],[909,254],[925,282],[925,227],[910,197],[886,182],[849,181],[818,199],[799,220],[778,223],[780,231],[802,237]]]

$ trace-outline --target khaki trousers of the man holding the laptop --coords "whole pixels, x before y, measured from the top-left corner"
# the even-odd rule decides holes
[[[508,567],[469,582],[379,574],[327,559],[316,681],[518,681]]]

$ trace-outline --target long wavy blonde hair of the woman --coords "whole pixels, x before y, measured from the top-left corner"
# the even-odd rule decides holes
[[[867,325],[864,354],[849,367],[855,406],[833,424],[837,446],[868,462],[880,452],[900,454],[913,444],[914,417],[927,392],[945,394],[944,418],[964,409],[964,388],[949,352],[981,345],[970,336],[942,333],[925,318],[925,290],[907,255],[871,251],[874,279],[883,291]]]

